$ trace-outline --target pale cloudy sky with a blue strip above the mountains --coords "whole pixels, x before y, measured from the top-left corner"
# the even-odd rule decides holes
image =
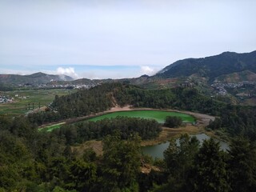
[[[0,0],[0,74],[136,78],[256,50],[254,0]]]

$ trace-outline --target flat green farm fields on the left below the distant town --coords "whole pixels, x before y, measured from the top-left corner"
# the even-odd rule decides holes
[[[8,98],[14,98],[14,102],[6,102],[0,104],[0,114],[6,114],[15,116],[19,114],[26,114],[33,110],[38,109],[39,106],[47,106],[50,102],[54,101],[55,95],[62,96],[65,94],[71,94],[76,90],[13,90],[2,91],[1,94],[8,96]]]

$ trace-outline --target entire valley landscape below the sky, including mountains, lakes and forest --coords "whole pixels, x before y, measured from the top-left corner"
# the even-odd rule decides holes
[[[254,54],[185,59],[139,78],[15,76],[0,86],[11,98],[0,104],[0,190],[182,191],[212,172],[222,187],[254,189]],[[230,57],[242,72],[214,66]]]

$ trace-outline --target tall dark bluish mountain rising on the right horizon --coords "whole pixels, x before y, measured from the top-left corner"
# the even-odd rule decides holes
[[[166,66],[155,76],[158,78],[180,78],[196,74],[214,81],[221,75],[249,70],[256,73],[256,51],[237,54],[224,52],[206,58],[186,58]]]

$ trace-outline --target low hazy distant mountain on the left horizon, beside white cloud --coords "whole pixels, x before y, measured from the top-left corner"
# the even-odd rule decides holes
[[[52,82],[52,81],[72,81],[73,78],[66,76],[64,74],[44,74],[36,73],[30,75],[20,75],[20,74],[0,74],[0,82],[2,84],[8,85],[38,85],[42,83]]]

